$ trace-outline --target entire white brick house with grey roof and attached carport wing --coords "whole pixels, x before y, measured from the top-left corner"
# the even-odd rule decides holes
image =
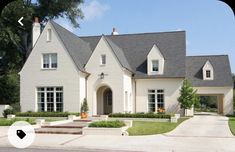
[[[176,113],[187,78],[198,94],[218,96],[219,113],[233,112],[228,56],[186,56],[184,31],[78,37],[53,21],[41,34],[36,25],[20,72],[22,111],[79,112],[86,98],[92,115]]]

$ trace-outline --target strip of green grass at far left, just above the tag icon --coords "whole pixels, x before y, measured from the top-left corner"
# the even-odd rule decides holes
[[[0,118],[0,126],[10,126],[16,121],[27,121],[32,125],[35,124],[34,118],[14,118],[14,119]]]

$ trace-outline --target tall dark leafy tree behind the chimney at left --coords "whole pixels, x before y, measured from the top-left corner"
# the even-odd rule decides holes
[[[79,5],[83,0],[16,0],[8,4],[0,16],[0,84],[1,88],[11,90],[12,84],[8,86],[8,77],[13,72],[17,75],[26,61],[27,55],[32,49],[32,19],[34,16],[40,18],[42,26],[49,19],[59,17],[67,18],[74,27],[79,27],[78,19],[83,18]],[[24,26],[17,21],[22,20]],[[15,87],[18,85],[18,78]],[[2,86],[4,84],[4,86]],[[6,92],[6,90],[2,90]],[[15,91],[15,90],[12,90]],[[18,89],[19,92],[19,89]],[[1,102],[6,101],[2,92],[0,92]]]

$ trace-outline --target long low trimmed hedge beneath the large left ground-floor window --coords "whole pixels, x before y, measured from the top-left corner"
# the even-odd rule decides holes
[[[68,117],[68,115],[79,115],[71,112],[21,112],[16,113],[18,117]]]

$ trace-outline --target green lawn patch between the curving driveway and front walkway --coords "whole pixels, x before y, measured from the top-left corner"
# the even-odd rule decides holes
[[[178,123],[134,121],[133,127],[129,128],[127,131],[130,136],[162,134],[175,129],[180,123],[187,119],[189,118],[180,118]]]

